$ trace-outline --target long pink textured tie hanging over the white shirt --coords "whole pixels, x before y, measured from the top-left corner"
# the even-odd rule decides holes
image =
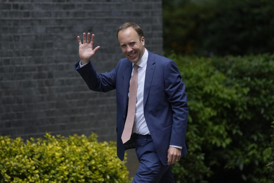
[[[122,134],[123,144],[126,143],[132,134],[132,127],[134,123],[135,111],[136,111],[136,98],[138,89],[138,72],[139,66],[134,64],[133,76],[129,85],[129,99],[128,99],[128,115],[126,116],[126,123]]]

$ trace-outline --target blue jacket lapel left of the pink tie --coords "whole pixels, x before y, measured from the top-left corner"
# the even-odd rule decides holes
[[[131,78],[132,73],[132,63],[129,61],[128,66],[126,67],[124,71],[124,87],[123,87],[123,93],[124,94],[124,109],[126,110],[126,107],[128,105],[128,89],[129,89],[129,82]]]

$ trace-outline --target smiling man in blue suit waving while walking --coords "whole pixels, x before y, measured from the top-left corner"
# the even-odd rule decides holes
[[[180,71],[174,61],[144,47],[143,31],[135,23],[121,25],[117,38],[126,58],[112,71],[99,74],[90,61],[99,48],[93,49],[94,34],[88,33],[86,39],[83,33],[83,44],[78,36],[81,60],[75,68],[90,89],[99,92],[116,89],[117,156],[123,160],[124,151],[135,148],[140,162],[132,182],[175,182],[170,164],[188,153],[185,143],[188,104]],[[131,80],[136,81],[136,87]],[[134,121],[126,139],[124,127],[130,124],[126,119],[132,114],[133,88],[137,91]]]

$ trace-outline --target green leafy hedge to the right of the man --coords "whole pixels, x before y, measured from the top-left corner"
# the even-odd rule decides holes
[[[178,182],[270,183],[274,55],[182,57],[189,102],[189,154]]]

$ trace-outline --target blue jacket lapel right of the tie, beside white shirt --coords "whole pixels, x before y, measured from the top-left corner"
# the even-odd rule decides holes
[[[148,99],[148,93],[149,93],[150,85],[152,82],[154,69],[155,69],[154,55],[150,51],[148,51],[148,62],[146,64],[146,77],[145,77],[145,84],[144,84],[144,108],[146,105],[146,100]]]

